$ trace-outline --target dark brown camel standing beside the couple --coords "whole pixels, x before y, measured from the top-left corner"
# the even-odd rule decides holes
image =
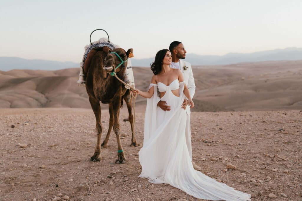
[[[120,141],[119,115],[120,108],[123,105],[123,99],[127,105],[129,112],[128,118],[132,130],[130,146],[137,147],[139,144],[137,143],[134,134],[132,97],[130,96],[130,90],[126,89],[116,77],[110,75],[110,73],[114,70],[113,68],[121,63],[120,59],[113,52],[117,53],[120,58],[125,61],[127,60],[129,54],[133,53],[133,49],[129,49],[126,52],[122,48],[115,48],[111,50],[109,47],[105,46],[99,49],[91,50],[84,63],[84,74],[86,76],[86,91],[89,97],[89,102],[95,114],[95,131],[97,133],[95,152],[90,160],[93,162],[101,160],[101,147],[106,148],[108,146],[108,139],[113,127],[118,146],[117,160],[115,162],[119,164],[127,162]],[[123,63],[119,68],[116,69],[116,75],[122,80],[124,78],[124,71],[126,69],[125,66],[127,66],[127,62]],[[109,105],[110,114],[108,132],[102,144],[100,144],[101,134],[103,131],[103,126],[101,123],[100,101]]]

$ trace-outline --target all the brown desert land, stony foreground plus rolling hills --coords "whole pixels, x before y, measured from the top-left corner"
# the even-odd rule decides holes
[[[150,69],[133,72],[136,87],[147,89]],[[302,61],[194,66],[193,73],[191,138],[200,171],[250,193],[252,201],[302,200]],[[139,147],[130,147],[126,107],[120,112],[127,163],[115,164],[112,131],[102,160],[89,161],[95,117],[78,75],[76,68],[0,71],[0,200],[201,200],[138,177],[146,106],[141,97]],[[101,107],[102,141],[109,114],[107,105]]]

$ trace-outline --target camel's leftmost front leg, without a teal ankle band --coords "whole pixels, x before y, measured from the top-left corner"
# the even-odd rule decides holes
[[[101,123],[101,106],[100,106],[100,101],[94,98],[89,97],[89,102],[91,105],[91,108],[95,114],[95,131],[97,133],[97,142],[96,142],[96,148],[95,148],[95,153],[93,156],[90,158],[91,161],[99,161],[102,159],[101,157],[101,134],[103,130],[103,126]]]

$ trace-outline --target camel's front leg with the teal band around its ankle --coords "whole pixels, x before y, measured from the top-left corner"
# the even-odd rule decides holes
[[[120,123],[118,121],[119,115],[120,115],[120,101],[121,97],[117,100],[115,100],[112,105],[113,105],[113,119],[114,119],[114,125],[113,125],[113,131],[116,135],[116,140],[117,140],[117,160],[115,161],[116,163],[126,163],[127,159],[124,154],[124,150],[122,147],[122,143],[120,141]]]

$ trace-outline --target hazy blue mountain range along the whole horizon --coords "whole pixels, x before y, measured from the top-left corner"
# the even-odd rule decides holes
[[[288,47],[285,49],[267,50],[255,53],[228,53],[223,56],[187,54],[185,60],[191,65],[225,65],[242,62],[280,61],[280,60],[302,60],[302,48]],[[132,66],[149,67],[154,58],[135,59],[132,58]],[[49,60],[27,60],[19,57],[0,57],[0,70],[13,69],[30,70],[59,70],[79,67],[79,63],[58,62]]]

